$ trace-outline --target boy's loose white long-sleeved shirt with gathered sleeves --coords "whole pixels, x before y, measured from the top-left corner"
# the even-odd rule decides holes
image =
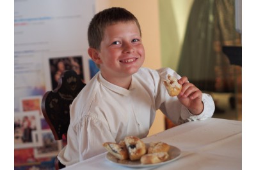
[[[102,143],[107,141],[118,143],[125,136],[145,138],[158,109],[175,124],[212,116],[214,102],[209,94],[203,94],[204,111],[197,116],[180,104],[177,97],[170,97],[163,85],[167,74],[180,78],[170,68],[143,67],[132,75],[127,90],[97,73],[70,107],[68,141],[58,155],[60,162],[69,166],[106,152]]]

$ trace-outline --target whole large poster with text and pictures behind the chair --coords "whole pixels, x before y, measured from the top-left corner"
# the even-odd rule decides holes
[[[45,122],[42,97],[63,70],[74,69],[84,83],[99,71],[87,53],[94,14],[94,0],[14,2],[15,169],[54,169],[65,142],[55,141]]]

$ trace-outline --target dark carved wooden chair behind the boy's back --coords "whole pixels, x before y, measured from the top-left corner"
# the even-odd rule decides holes
[[[86,84],[73,70],[64,71],[58,82],[58,87],[44,94],[41,108],[46,122],[51,127],[55,140],[67,139],[70,123],[70,104]],[[55,159],[55,169],[65,167]]]

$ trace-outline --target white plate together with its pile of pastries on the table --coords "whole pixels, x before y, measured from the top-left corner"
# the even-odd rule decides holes
[[[180,149],[162,141],[144,143],[136,136],[126,136],[119,143],[102,144],[109,162],[127,167],[160,166],[180,156]]]

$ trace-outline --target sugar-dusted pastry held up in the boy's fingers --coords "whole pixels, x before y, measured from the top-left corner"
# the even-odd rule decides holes
[[[178,83],[178,79],[175,78],[175,76],[171,76],[170,74],[168,74],[167,79],[163,80],[163,83],[170,96],[179,95],[182,89],[182,85]]]

